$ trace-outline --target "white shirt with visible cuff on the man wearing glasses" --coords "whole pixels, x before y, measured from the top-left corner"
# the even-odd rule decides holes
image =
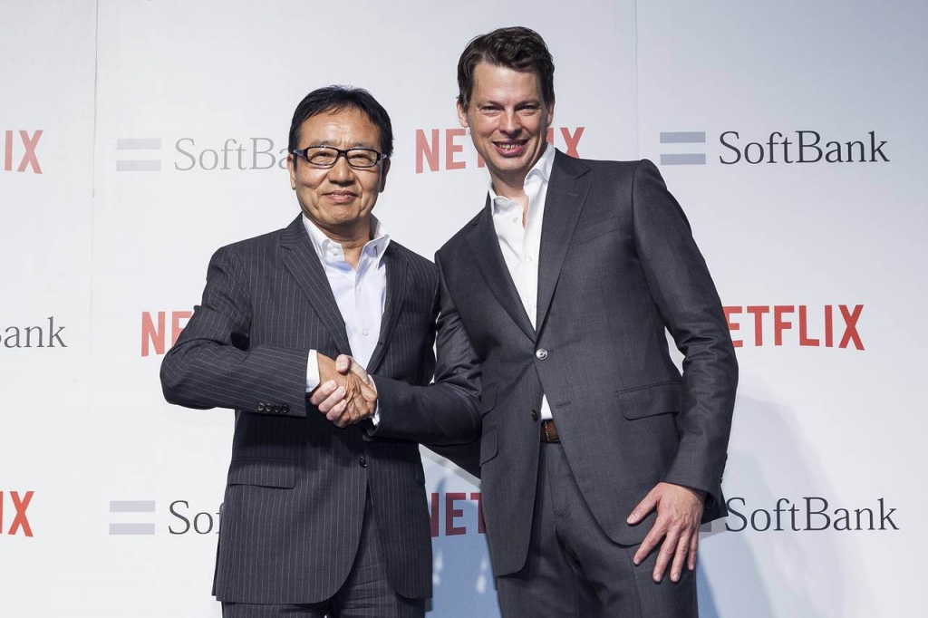
[[[361,367],[367,367],[380,340],[380,317],[387,299],[387,267],[383,254],[390,237],[374,215],[370,215],[372,240],[361,250],[357,270],[345,262],[342,245],[325,235],[303,214],[303,225],[313,249],[329,279],[329,288],[339,305],[352,355]],[[319,385],[319,362],[316,350],[309,351],[306,363],[306,393]]]

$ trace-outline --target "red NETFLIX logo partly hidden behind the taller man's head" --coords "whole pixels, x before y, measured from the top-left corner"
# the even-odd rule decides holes
[[[561,148],[570,157],[579,158],[577,149],[585,127],[571,129],[562,126],[555,129],[548,127],[548,144]],[[464,157],[464,144],[467,143],[467,131],[457,129],[416,129],[416,174],[424,172],[441,172],[443,170],[464,170],[469,165],[486,167],[483,158],[474,153],[474,160]]]

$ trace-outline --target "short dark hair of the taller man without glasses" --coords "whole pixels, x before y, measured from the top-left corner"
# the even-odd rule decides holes
[[[458,105],[464,109],[470,105],[473,71],[481,62],[535,73],[545,105],[554,105],[554,58],[538,32],[512,26],[481,34],[470,41],[458,60]]]

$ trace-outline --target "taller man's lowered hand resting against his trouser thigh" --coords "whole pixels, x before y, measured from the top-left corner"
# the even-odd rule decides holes
[[[635,552],[634,559],[638,565],[654,547],[661,546],[651,575],[655,582],[664,579],[664,571],[671,560],[671,581],[680,580],[684,563],[690,571],[696,569],[696,549],[699,547],[699,525],[704,504],[705,492],[683,485],[657,483],[628,516],[628,523],[635,524],[642,521],[651,510],[657,509],[657,520]]]

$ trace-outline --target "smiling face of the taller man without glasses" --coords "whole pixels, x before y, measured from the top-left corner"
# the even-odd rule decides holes
[[[502,195],[507,187],[522,192],[526,174],[545,151],[553,118],[554,106],[545,105],[534,72],[487,62],[474,68],[467,109],[458,104],[458,121],[470,128],[474,148]]]

